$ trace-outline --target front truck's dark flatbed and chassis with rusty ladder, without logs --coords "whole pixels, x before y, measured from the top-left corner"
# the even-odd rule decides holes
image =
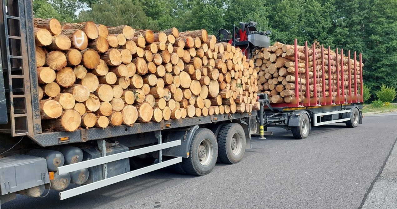
[[[171,165],[205,175],[217,160],[237,163],[251,149],[256,111],[43,131],[32,1],[1,1],[0,13],[1,203],[16,194],[39,197],[48,188],[62,191],[63,200]],[[81,186],[65,190],[73,182]]]

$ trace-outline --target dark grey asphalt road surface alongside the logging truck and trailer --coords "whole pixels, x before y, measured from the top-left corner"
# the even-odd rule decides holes
[[[395,143],[396,124],[396,114],[366,116],[354,129],[312,127],[304,140],[275,128],[266,140],[253,139],[240,163],[217,164],[206,176],[162,169],[64,201],[56,191],[45,198],[17,195],[2,209],[359,208]]]

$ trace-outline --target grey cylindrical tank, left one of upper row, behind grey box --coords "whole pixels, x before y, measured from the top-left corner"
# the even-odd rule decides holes
[[[47,168],[50,171],[56,171],[58,167],[63,166],[65,163],[65,158],[62,153],[55,150],[46,149],[32,149],[27,153],[27,155],[33,155],[36,157],[43,157],[47,161]]]

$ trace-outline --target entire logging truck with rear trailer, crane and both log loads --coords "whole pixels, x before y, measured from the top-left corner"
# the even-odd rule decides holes
[[[361,55],[351,71],[343,52],[269,46],[254,22],[217,43],[204,29],[33,19],[31,0],[2,1],[1,14],[1,203],[46,189],[63,200],[166,166],[202,176],[241,161],[267,127],[303,139],[311,125],[362,122]]]

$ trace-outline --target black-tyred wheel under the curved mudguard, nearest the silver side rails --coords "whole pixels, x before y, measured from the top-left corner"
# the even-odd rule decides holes
[[[181,168],[187,174],[204,176],[214,169],[217,157],[218,144],[214,133],[208,128],[199,128],[193,135],[189,157],[182,159]]]

